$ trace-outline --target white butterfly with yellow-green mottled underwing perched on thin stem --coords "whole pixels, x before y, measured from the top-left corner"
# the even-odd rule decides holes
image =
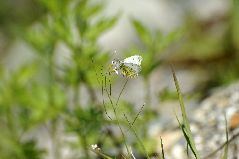
[[[111,67],[116,74],[122,74],[125,77],[137,77],[141,71],[141,62],[143,58],[140,55],[130,56],[124,60],[114,59]]]

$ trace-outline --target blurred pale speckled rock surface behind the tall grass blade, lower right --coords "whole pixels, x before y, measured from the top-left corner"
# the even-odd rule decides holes
[[[204,99],[197,109],[188,114],[191,130],[194,135],[196,147],[202,157],[218,149],[226,142],[226,121],[229,130],[229,139],[239,133],[239,83],[220,87],[211,91],[211,95]],[[186,157],[186,142],[179,129],[168,130],[169,125],[162,125],[158,133],[165,143],[167,158],[183,159]],[[167,128],[165,131],[164,127]],[[159,137],[158,137],[159,138]],[[160,140],[159,140],[160,141]],[[159,142],[160,145],[160,142]],[[170,145],[170,146],[168,146]],[[239,157],[239,140],[235,138],[229,144],[228,158]],[[159,146],[160,149],[160,146]],[[207,158],[220,158],[224,148]]]

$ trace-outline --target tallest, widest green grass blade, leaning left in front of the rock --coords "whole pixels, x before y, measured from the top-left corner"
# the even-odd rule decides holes
[[[175,84],[175,87],[176,87],[176,90],[177,90],[178,100],[179,100],[179,104],[180,104],[180,108],[181,108],[181,112],[182,112],[182,120],[183,121],[181,123],[180,128],[183,131],[184,137],[185,137],[191,151],[193,152],[193,155],[195,156],[196,159],[200,159],[200,155],[199,155],[199,153],[196,149],[195,142],[193,140],[193,135],[192,135],[192,132],[191,132],[191,129],[190,129],[189,120],[188,120],[186,110],[185,110],[185,106],[184,106],[183,96],[181,94],[179,83],[178,83],[176,74],[175,74],[174,69],[173,69],[172,66],[171,66],[171,70],[172,70],[172,73],[173,73],[174,84]]]

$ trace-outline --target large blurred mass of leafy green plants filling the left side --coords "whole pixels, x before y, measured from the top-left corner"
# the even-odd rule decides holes
[[[58,123],[62,121],[67,124],[67,127],[64,126],[66,132],[73,132],[79,137],[76,142],[80,141],[85,150],[83,156],[90,158],[90,144],[97,143],[98,130],[104,125],[102,109],[96,105],[93,87],[99,84],[93,68],[105,63],[107,54],[100,50],[97,40],[116,23],[118,16],[96,18],[104,4],[90,3],[88,0],[39,0],[26,3],[26,6],[34,3],[39,10],[44,10],[44,14],[42,12],[39,18],[33,14],[30,17],[34,21],[30,23],[24,16],[31,10],[26,10],[23,15],[11,12],[13,16],[20,16],[19,19],[28,22],[24,27],[16,27],[17,33],[34,49],[36,57],[33,64],[26,64],[14,72],[1,73],[1,126],[5,131],[0,136],[5,139],[1,140],[1,147],[6,148],[2,149],[0,158],[40,158],[42,153],[34,146],[35,141],[25,139],[22,134],[40,129],[43,125],[48,127],[51,142],[58,149],[55,152],[59,152],[61,147],[57,143],[60,138],[56,139],[59,141],[54,138],[57,136]],[[6,9],[7,6],[15,5],[4,2],[1,7]],[[0,13],[6,17],[4,10],[1,9]],[[1,18],[2,24],[12,26],[4,18]],[[14,22],[20,26],[20,22]],[[56,66],[54,60],[54,56],[58,56],[55,49],[59,43],[64,43],[71,51],[70,65],[61,68]],[[59,70],[63,75],[58,74]],[[80,104],[82,85],[90,92],[91,101],[87,109],[81,108]],[[74,91],[73,101],[67,98],[68,90]],[[72,108],[69,102],[73,102]],[[8,149],[15,151],[8,152]],[[54,154],[53,157],[58,158],[59,155]]]

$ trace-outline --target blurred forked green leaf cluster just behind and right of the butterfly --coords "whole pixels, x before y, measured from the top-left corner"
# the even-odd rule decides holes
[[[160,53],[182,36],[183,29],[165,35],[160,30],[150,31],[136,19],[132,19],[132,24],[143,43],[144,53],[142,55],[144,63],[142,65],[142,75],[147,79],[154,69],[160,65]]]

